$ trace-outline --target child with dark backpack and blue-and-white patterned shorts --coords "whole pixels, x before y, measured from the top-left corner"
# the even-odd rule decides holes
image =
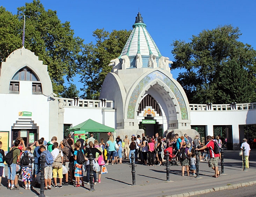
[[[27,147],[20,155],[20,165],[22,171],[22,181],[24,182],[25,189],[31,189],[32,181],[32,163],[34,162],[34,155],[31,152],[31,148]],[[27,184],[28,183],[28,184]]]

